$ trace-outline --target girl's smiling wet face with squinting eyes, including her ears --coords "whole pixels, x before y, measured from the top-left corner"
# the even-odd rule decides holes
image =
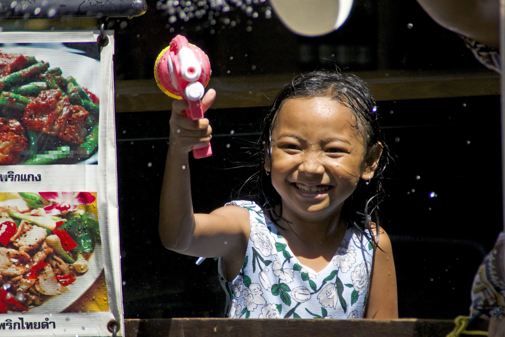
[[[284,102],[265,169],[283,207],[307,221],[340,212],[361,178],[373,177],[381,147],[365,158],[365,140],[349,108],[325,97]]]

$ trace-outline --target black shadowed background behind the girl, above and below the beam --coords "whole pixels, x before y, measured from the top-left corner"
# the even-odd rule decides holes
[[[106,20],[116,30],[117,80],[153,78],[156,57],[175,34],[209,55],[213,76],[296,75],[335,66],[349,72],[483,68],[457,34],[438,26],[414,0],[357,0],[338,31],[315,38],[291,33],[275,13],[267,19],[268,3],[253,6],[256,19],[230,3],[228,13],[173,24],[156,1],[148,4],[142,17]],[[395,256],[399,315],[466,315],[473,275],[502,228],[499,97],[387,101],[378,107],[392,155],[381,211]],[[246,164],[254,160],[251,147],[264,110],[207,113],[214,155],[190,161],[196,212],[228,202],[254,173]],[[158,237],[169,118],[169,111],[116,115],[125,317],[221,317],[217,263],[208,259],[196,266],[196,258],[167,251]],[[437,197],[429,198],[431,192]]]

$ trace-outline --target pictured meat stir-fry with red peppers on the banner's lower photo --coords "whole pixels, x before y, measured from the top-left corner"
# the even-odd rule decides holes
[[[87,212],[93,194],[18,196],[26,207],[0,206],[0,313],[24,312],[65,293],[100,243],[95,213]]]

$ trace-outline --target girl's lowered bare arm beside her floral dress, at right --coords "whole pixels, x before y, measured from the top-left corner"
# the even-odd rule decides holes
[[[396,271],[394,269],[391,241],[384,229],[378,226],[379,247],[375,246],[372,278],[365,318],[398,318]],[[377,239],[377,235],[374,234]]]

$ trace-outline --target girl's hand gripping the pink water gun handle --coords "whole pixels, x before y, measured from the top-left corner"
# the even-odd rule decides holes
[[[201,99],[204,113],[214,102],[216,91],[209,89],[204,98]],[[193,121],[187,118],[183,110],[189,110],[187,101],[176,100],[172,103],[172,116],[170,117],[170,137],[169,146],[171,151],[179,154],[187,154],[191,147],[206,143],[212,138],[212,127],[207,118]]]

